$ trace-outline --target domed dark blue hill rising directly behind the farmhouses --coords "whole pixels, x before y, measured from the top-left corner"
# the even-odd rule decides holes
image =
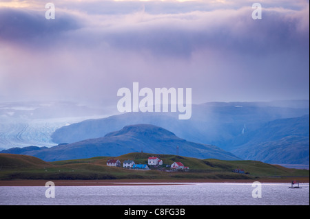
[[[179,154],[200,159],[239,160],[234,154],[216,146],[194,143],[176,137],[173,132],[149,124],[125,126],[110,132],[105,137],[87,139],[76,143],[54,146],[43,150],[32,150],[23,154],[38,157],[44,161],[83,159],[90,157],[116,157],[129,152],[149,152],[158,154]]]

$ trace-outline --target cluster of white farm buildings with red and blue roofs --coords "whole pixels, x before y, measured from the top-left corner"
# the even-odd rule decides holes
[[[158,157],[149,157],[147,159],[148,165],[158,167],[159,165],[163,165],[163,161],[158,159]],[[121,161],[118,159],[109,159],[107,161],[107,165],[110,167],[121,167]],[[136,164],[134,161],[126,160],[123,162],[123,168],[128,168],[132,170],[150,170],[148,165],[146,164]],[[189,167],[185,167],[181,162],[174,162],[172,165],[167,165],[166,167],[170,167],[171,170],[189,170]]]

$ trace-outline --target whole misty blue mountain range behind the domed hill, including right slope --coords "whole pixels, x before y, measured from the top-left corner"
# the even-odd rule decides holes
[[[303,117],[304,115],[308,117]],[[287,118],[296,119],[286,120]],[[277,123],[273,121],[278,121],[280,124],[273,127],[273,124]],[[130,124],[160,126],[187,141],[218,146],[233,154],[236,153],[235,155],[242,159],[270,163],[309,163],[309,101],[307,100],[211,102],[193,105],[192,118],[189,120],[178,120],[172,113],[125,113],[103,119],[90,119],[59,128],[53,133],[52,139],[57,143],[94,139]],[[293,130],[301,132],[297,135]],[[272,141],[269,141],[269,135],[273,135]],[[287,137],[286,141],[285,137]],[[275,143],[277,150],[273,148]],[[291,144],[294,145],[294,150],[289,150],[290,156],[287,156],[288,149],[285,148],[289,148]],[[265,148],[264,152],[259,150],[262,145]],[[283,152],[280,153],[280,150]]]

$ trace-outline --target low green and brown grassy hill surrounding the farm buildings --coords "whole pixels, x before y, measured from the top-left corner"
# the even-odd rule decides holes
[[[45,162],[35,157],[20,154],[0,154],[0,180],[14,179],[259,179],[303,176],[309,177],[309,170],[284,168],[260,161],[223,161],[217,159],[196,159],[169,154],[130,153],[114,159],[121,163],[130,159],[135,163],[147,164],[148,157],[159,157],[163,160],[161,170],[138,171],[124,168],[108,167],[106,162],[111,157],[93,157],[67,161]],[[175,161],[189,167],[189,172],[167,172],[166,165]],[[242,168],[249,174],[232,172]]]

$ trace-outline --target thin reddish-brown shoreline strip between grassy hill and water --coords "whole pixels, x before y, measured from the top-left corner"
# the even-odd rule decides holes
[[[48,181],[55,186],[112,186],[112,185],[187,185],[188,183],[309,183],[309,177],[258,178],[258,179],[117,179],[117,180],[13,180],[0,181],[0,186],[45,186]],[[175,183],[175,184],[174,184]]]

